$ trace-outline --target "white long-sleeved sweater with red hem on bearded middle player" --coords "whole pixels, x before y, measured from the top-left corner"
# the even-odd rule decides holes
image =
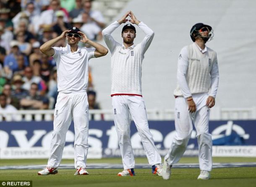
[[[113,39],[111,33],[120,26],[118,21],[110,24],[102,31],[103,39],[111,52],[111,96],[142,96],[141,69],[144,54],[151,44],[154,32],[140,22],[138,27],[146,34],[143,41],[127,49]]]

